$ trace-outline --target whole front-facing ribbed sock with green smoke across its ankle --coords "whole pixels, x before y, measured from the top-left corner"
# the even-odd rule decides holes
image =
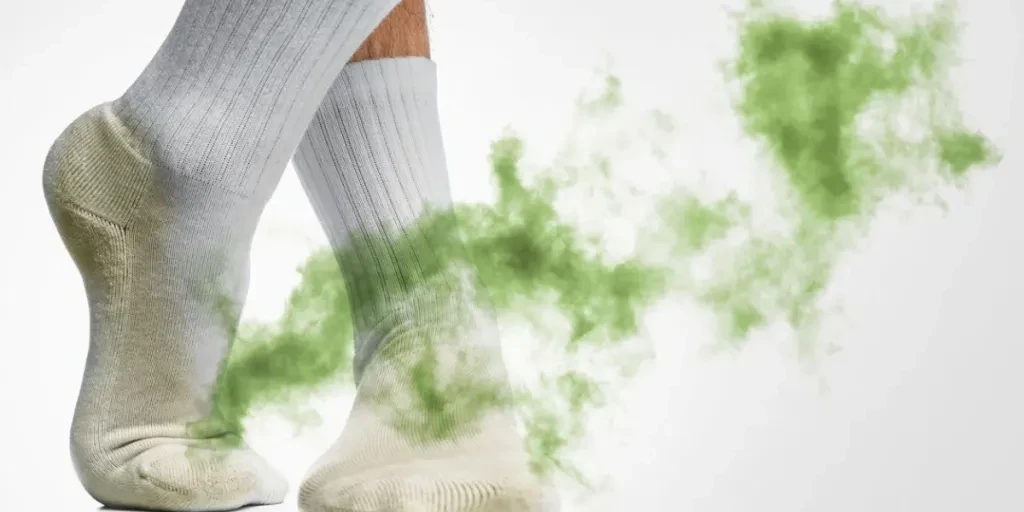
[[[357,396],[305,512],[537,512],[498,329],[458,264],[434,63],[345,67],[295,155],[353,306]],[[433,220],[424,219],[430,218]]]

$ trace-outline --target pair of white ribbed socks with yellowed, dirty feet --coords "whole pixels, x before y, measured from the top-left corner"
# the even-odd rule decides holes
[[[223,447],[230,432],[190,425],[211,413],[253,233],[294,155],[345,273],[359,381],[344,431],[300,487],[300,508],[553,506],[508,408],[424,441],[399,428],[424,413],[388,406],[414,397],[409,381],[426,352],[441,373],[468,356],[480,362],[474,379],[507,385],[493,314],[417,224],[451,203],[434,65],[347,65],[396,3],[187,0],[128,91],[53,143],[44,194],[90,311],[72,460],[97,501],[229,510],[287,495],[244,443]]]

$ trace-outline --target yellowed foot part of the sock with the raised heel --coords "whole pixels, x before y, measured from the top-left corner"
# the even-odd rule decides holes
[[[167,180],[109,103],[68,127],[44,175],[90,305],[71,436],[86,490],[122,507],[279,503],[287,482],[262,458],[244,444],[220,447],[227,431],[198,436],[189,427],[210,411],[237,322],[217,300],[245,295],[249,241],[240,233],[249,226],[238,217],[246,205],[205,183]]]

